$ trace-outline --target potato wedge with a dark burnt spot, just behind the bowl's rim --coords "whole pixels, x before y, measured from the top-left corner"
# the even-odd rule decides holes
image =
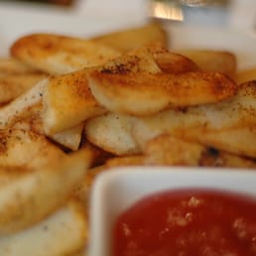
[[[253,159],[205,147],[172,134],[162,134],[152,139],[143,153],[143,164],[150,166],[256,168]]]

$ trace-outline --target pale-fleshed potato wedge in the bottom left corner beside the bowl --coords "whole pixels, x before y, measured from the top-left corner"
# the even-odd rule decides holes
[[[79,202],[69,200],[41,222],[0,237],[2,256],[64,256],[86,245],[87,219]]]

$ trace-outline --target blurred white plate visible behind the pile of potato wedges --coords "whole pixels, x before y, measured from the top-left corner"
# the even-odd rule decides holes
[[[147,18],[131,17],[116,20],[82,16],[63,9],[35,8],[0,4],[0,56],[7,56],[14,40],[40,32],[61,33],[70,36],[91,37],[117,29],[139,26]],[[256,38],[241,31],[217,27],[204,28],[179,26],[167,27],[172,49],[195,48],[232,51],[238,59],[238,68],[256,66]]]

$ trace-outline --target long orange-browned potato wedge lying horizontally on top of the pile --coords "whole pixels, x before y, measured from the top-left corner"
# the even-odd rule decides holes
[[[216,102],[237,92],[237,84],[219,72],[120,74],[103,69],[93,70],[87,77],[93,95],[103,106],[134,115]]]

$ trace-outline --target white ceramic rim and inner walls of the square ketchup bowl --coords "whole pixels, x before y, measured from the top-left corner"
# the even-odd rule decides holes
[[[112,227],[121,212],[155,192],[206,189],[256,198],[256,172],[174,167],[115,168],[100,174],[90,196],[88,256],[111,256]]]

